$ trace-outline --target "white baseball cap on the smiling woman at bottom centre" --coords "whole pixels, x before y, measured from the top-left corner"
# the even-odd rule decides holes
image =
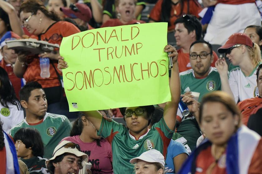
[[[156,149],[148,150],[144,153],[142,153],[139,157],[131,159],[130,163],[137,163],[137,160],[141,159],[143,161],[146,161],[148,163],[161,163],[163,166],[165,166],[165,159],[162,153],[160,153]]]

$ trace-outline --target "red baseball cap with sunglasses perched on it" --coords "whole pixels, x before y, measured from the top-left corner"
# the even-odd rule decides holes
[[[72,19],[79,18],[85,22],[89,22],[92,18],[92,12],[85,4],[75,3],[74,5],[70,5],[69,8],[61,7],[60,10],[63,11],[66,16]]]

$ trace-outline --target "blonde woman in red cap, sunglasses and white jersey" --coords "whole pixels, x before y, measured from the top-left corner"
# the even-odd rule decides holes
[[[235,103],[258,96],[256,70],[262,62],[260,47],[247,35],[235,33],[218,49],[218,52],[225,53],[234,66],[239,66],[230,71],[228,78],[225,58],[216,61],[222,91],[234,97]]]

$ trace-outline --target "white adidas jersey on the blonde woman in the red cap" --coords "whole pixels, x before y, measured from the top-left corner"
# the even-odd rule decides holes
[[[243,101],[245,99],[258,96],[258,89],[257,89],[257,82],[256,82],[257,67],[250,74],[250,76],[245,76],[245,74],[241,71],[240,67],[237,67],[232,71],[230,71],[229,85],[231,91],[234,94],[236,103],[238,99],[240,101]]]

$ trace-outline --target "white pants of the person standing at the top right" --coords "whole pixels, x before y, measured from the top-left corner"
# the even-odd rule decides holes
[[[261,25],[255,0],[218,0],[204,40],[223,45],[230,35],[243,33],[249,25]]]

